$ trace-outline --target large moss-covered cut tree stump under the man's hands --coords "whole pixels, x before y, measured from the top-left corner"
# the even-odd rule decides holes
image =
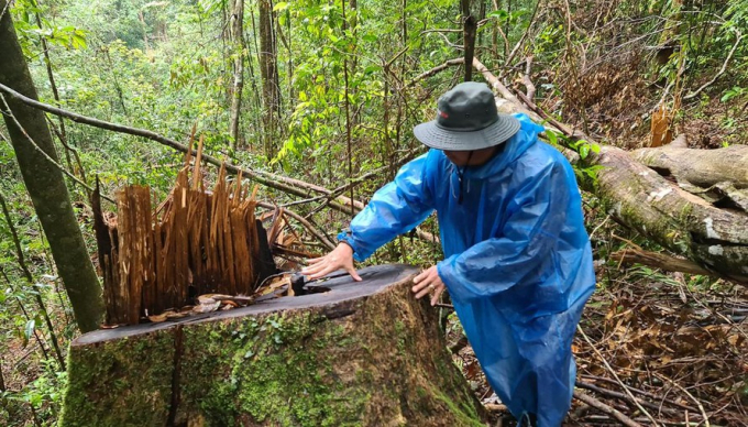
[[[385,265],[69,350],[63,426],[482,426],[417,270]],[[320,293],[323,288],[329,292]]]

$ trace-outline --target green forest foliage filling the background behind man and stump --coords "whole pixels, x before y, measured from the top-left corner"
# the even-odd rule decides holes
[[[476,57],[516,87],[528,74],[541,108],[600,141],[640,146],[652,112],[682,99],[675,124],[696,146],[745,143],[748,0],[471,3]],[[422,75],[463,55],[463,14],[453,0],[16,0],[7,13],[41,101],[178,141],[197,124],[206,153],[327,188],[382,171],[353,186],[362,200],[424,152],[413,127],[432,120],[437,97],[463,77],[461,65]],[[241,36],[231,30],[238,15]],[[163,199],[183,163],[180,153],[142,138],[48,122],[70,147],[57,139],[63,166],[88,185],[98,177],[105,194],[147,184]],[[78,332],[6,135],[0,128],[8,206],[0,219],[0,424],[52,425],[66,380],[52,338],[64,353]],[[87,191],[73,180],[68,188],[94,254]],[[273,189],[261,197],[293,201]],[[314,220],[331,236],[348,219],[319,202],[294,209],[317,210]],[[438,256],[406,239],[377,261],[428,265]]]

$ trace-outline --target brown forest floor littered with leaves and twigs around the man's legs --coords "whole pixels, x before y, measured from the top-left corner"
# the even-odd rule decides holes
[[[748,289],[646,267],[601,265],[597,275],[601,285],[585,308],[584,333],[573,344],[578,392],[641,425],[653,425],[653,419],[660,425],[747,426]],[[461,335],[452,326],[450,346]],[[515,425],[497,405],[470,346],[454,359],[497,419]],[[575,398],[564,425],[618,421]]]

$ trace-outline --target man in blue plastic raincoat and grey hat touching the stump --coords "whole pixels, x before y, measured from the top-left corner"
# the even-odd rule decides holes
[[[538,141],[527,116],[498,114],[488,87],[464,83],[414,129],[430,146],[403,166],[302,273],[344,269],[353,258],[424,221],[435,209],[446,259],[415,277],[417,298],[447,288],[488,383],[521,423],[559,426],[576,376],[571,343],[595,287],[574,172]]]

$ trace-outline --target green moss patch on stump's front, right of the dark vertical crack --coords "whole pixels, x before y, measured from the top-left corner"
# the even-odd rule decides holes
[[[271,315],[235,319],[222,328],[207,324],[188,332],[187,348],[206,336],[223,346],[210,348],[210,355],[186,354],[185,369],[227,380],[185,385],[183,405],[194,402],[207,424],[216,426],[238,425],[242,415],[252,423],[280,426],[360,425],[367,395],[330,377],[338,361],[323,350],[344,343],[345,330],[330,321],[320,329],[320,320],[310,314]],[[309,351],[309,344],[321,350]]]

